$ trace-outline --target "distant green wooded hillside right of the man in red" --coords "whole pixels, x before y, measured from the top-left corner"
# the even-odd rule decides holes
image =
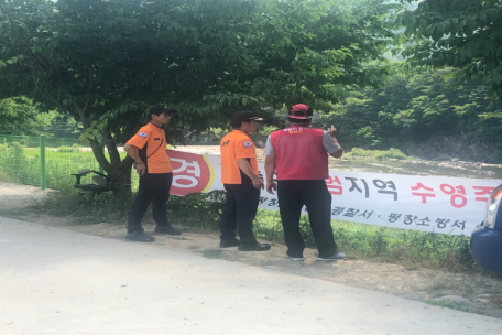
[[[502,102],[481,80],[459,82],[452,68],[397,69],[380,88],[348,95],[315,125],[337,125],[346,149],[502,162]]]

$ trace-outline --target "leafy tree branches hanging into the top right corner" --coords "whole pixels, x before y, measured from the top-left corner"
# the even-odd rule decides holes
[[[405,56],[459,68],[465,79],[481,78],[502,98],[502,1],[424,0],[400,24],[410,43]]]

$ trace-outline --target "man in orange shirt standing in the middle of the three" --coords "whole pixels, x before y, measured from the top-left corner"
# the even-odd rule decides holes
[[[233,130],[220,142],[221,182],[227,191],[220,218],[220,248],[237,247],[240,251],[265,251],[269,244],[259,244],[253,220],[263,181],[258,176],[257,150],[249,136],[257,131],[258,118],[252,110],[238,111],[230,126]],[[240,241],[236,238],[239,231]]]

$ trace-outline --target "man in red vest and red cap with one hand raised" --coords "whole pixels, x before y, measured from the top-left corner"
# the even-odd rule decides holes
[[[290,127],[272,132],[266,140],[266,191],[277,190],[279,210],[287,246],[287,256],[304,260],[305,242],[299,230],[299,217],[305,205],[317,245],[319,261],[346,258],[337,251],[331,228],[331,194],[325,180],[329,177],[328,153],[340,158],[342,149],[336,128],[328,131],[310,128],[313,109],[304,104],[290,108]],[[274,172],[276,181],[273,180]]]

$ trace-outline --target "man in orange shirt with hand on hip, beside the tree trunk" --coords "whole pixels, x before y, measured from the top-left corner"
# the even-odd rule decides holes
[[[144,234],[141,220],[152,203],[156,234],[179,235],[167,219],[167,201],[173,182],[173,168],[167,155],[164,125],[168,123],[176,110],[162,105],[150,108],[150,122],[140,128],[123,150],[135,161],[140,187],[129,210],[127,239],[153,242],[155,238]]]

